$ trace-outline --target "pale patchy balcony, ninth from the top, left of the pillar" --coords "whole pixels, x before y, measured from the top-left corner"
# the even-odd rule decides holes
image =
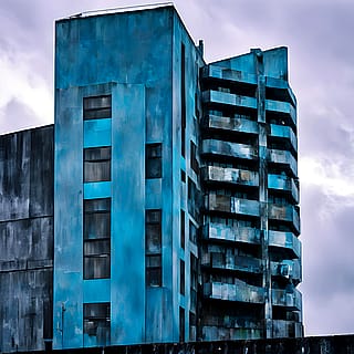
[[[264,303],[264,289],[237,280],[236,284],[211,282],[204,284],[204,295],[208,299]]]

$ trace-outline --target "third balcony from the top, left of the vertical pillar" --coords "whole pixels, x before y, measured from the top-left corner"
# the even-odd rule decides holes
[[[225,117],[209,114],[204,119],[204,127],[209,129],[222,129],[248,134],[258,134],[257,122],[242,117]]]

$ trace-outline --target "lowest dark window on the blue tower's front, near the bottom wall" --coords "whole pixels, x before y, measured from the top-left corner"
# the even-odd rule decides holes
[[[97,344],[111,342],[111,304],[84,303],[84,334],[97,337]]]

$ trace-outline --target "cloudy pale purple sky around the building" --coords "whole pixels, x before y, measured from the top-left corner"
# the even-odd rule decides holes
[[[53,21],[152,0],[1,0],[0,134],[53,123]],[[289,48],[306,335],[354,333],[354,1],[176,0],[207,61]]]

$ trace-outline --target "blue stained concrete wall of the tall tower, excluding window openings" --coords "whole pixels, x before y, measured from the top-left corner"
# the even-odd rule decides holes
[[[97,345],[83,303],[111,302],[111,344],[179,339],[180,168],[196,142],[199,54],[173,7],[56,22],[53,347]],[[186,45],[186,159],[180,157],[180,42]],[[112,94],[112,118],[83,122],[83,97]],[[163,178],[145,180],[145,144],[163,144]],[[83,184],[83,148],[112,146],[112,179]],[[184,189],[186,190],[186,188]],[[83,280],[83,199],[112,198],[111,279]],[[163,210],[163,287],[145,287],[145,209]],[[187,296],[187,295],[186,295]],[[107,343],[108,344],[108,343]]]

